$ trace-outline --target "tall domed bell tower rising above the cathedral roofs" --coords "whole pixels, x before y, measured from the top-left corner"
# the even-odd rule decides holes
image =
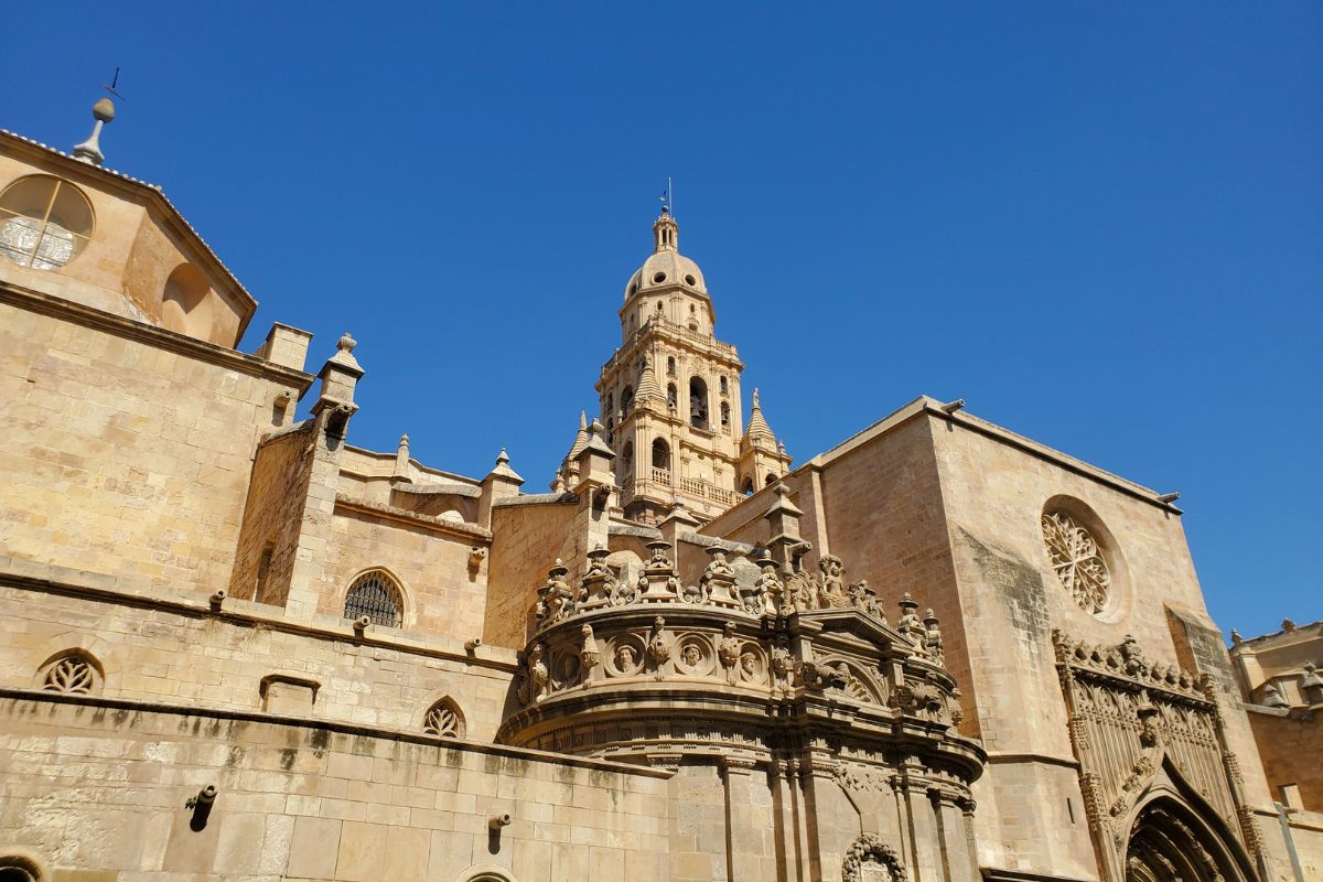
[[[680,226],[663,208],[652,254],[624,288],[620,348],[597,382],[620,505],[644,524],[676,502],[712,520],[790,467],[757,395],[749,424],[757,438],[745,438],[744,362],[716,337],[703,271],[680,254],[679,239]]]

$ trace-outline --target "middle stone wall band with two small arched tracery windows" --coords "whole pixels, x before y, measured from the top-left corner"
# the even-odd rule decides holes
[[[40,685],[38,672],[70,649],[105,672],[102,694],[180,701],[198,707],[259,711],[263,678],[316,684],[308,714],[320,719],[422,731],[442,698],[459,707],[467,737],[491,741],[505,714],[515,655],[467,652],[445,637],[372,628],[357,639],[336,616],[295,621],[278,607],[106,590],[56,582],[62,574],[0,559],[0,685]]]

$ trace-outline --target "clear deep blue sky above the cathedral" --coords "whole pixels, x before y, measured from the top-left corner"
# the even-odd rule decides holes
[[[672,176],[796,459],[963,397],[1181,491],[1224,628],[1323,618],[1323,7],[421,5],[22,4],[0,126],[67,149],[123,66],[107,164],[261,300],[245,348],[348,328],[353,443],[533,492]]]

